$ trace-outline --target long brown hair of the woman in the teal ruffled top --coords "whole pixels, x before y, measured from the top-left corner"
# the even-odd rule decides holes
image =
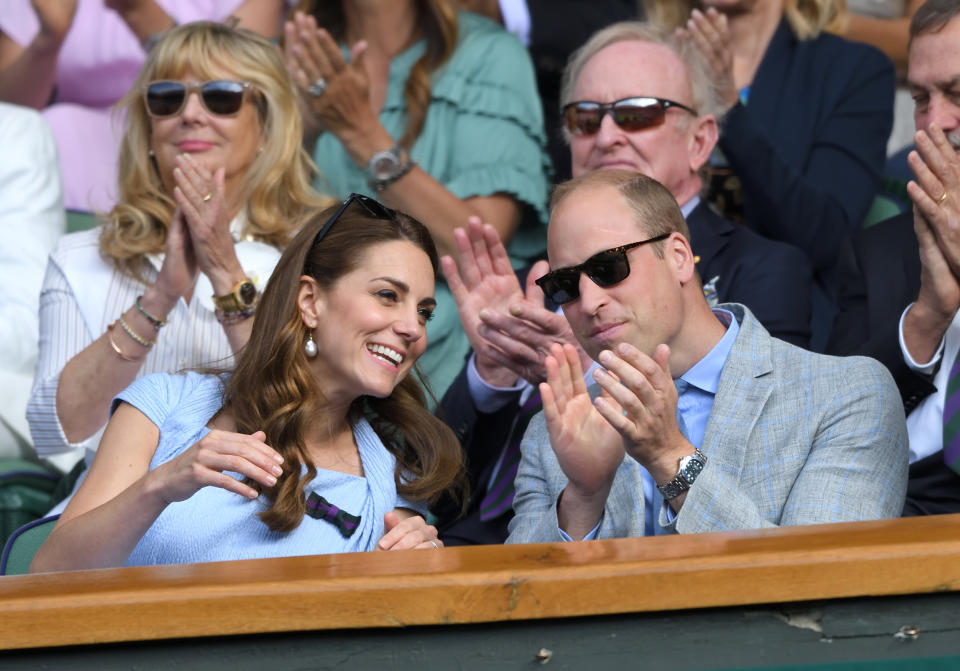
[[[427,108],[430,106],[430,75],[447,62],[457,46],[457,10],[450,0],[417,0],[415,25],[427,42],[426,51],[410,70],[403,87],[407,103],[407,127],[400,145],[410,151],[420,137]],[[317,25],[325,28],[334,39],[343,42],[347,32],[342,2],[301,0],[296,10],[313,14]]]

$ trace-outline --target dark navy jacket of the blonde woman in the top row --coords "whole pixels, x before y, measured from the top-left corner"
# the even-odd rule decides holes
[[[893,123],[894,70],[866,44],[799,41],[784,20],[720,148],[743,183],[745,217],[804,252],[818,273],[860,226],[880,187]]]

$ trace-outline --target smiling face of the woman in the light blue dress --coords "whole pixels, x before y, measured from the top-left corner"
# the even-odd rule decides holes
[[[436,301],[430,257],[412,242],[367,248],[316,303],[312,366],[328,400],[389,396],[427,348]]]

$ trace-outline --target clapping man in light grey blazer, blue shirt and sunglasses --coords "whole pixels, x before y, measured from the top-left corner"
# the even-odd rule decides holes
[[[659,183],[615,170],[560,185],[548,254],[537,283],[600,365],[588,388],[576,350],[551,348],[507,542],[900,514],[906,427],[890,374],[772,338],[742,305],[712,309]]]

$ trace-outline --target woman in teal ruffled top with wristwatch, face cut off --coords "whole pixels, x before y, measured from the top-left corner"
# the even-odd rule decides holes
[[[541,256],[549,160],[533,66],[519,40],[449,0],[301,7],[284,48],[303,94],[319,188],[376,193],[422,221],[441,254],[455,249],[453,230],[479,216],[515,265]],[[420,366],[441,395],[469,351],[442,283],[429,335]]]

